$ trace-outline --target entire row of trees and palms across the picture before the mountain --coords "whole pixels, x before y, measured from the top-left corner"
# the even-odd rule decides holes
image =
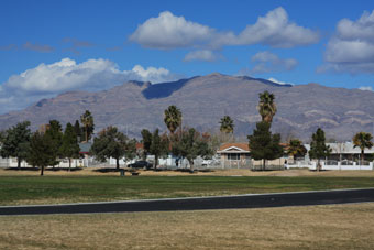
[[[307,150],[298,139],[290,139],[286,149],[280,145],[280,134],[273,134],[271,126],[277,112],[274,94],[267,90],[258,95],[257,110],[261,121],[256,123],[253,133],[248,135],[251,156],[254,160],[263,161],[263,170],[266,167],[266,160],[274,160],[283,156],[284,153],[294,156],[304,156]],[[0,133],[2,157],[16,157],[18,167],[25,160],[33,166],[41,167],[43,175],[44,167],[55,166],[58,159],[68,159],[69,170],[72,159],[79,157],[79,142],[88,142],[95,131],[94,117],[89,110],[80,116],[80,122],[66,124],[63,131],[59,121],[51,120],[45,131],[31,133],[30,122],[20,122],[16,126]],[[164,122],[168,132],[161,133],[160,129],[141,132],[143,144],[136,148],[138,141],[129,139],[118,128],[109,126],[98,132],[94,138],[90,153],[99,161],[116,159],[117,169],[120,166],[120,159],[132,160],[135,156],[145,160],[147,155],[154,155],[154,167],[158,165],[158,159],[173,154],[179,160],[187,159],[194,167],[194,160],[197,156],[210,157],[218,150],[222,142],[234,141],[234,122],[230,116],[223,116],[219,121],[220,137],[208,132],[200,133],[195,128],[183,127],[183,115],[179,108],[172,105],[164,110]],[[361,149],[361,160],[364,160],[364,149],[372,148],[372,134],[359,132],[353,138],[354,146]],[[317,170],[320,170],[320,160],[328,156],[331,149],[326,144],[324,131],[318,128],[311,137],[309,155],[317,159]]]

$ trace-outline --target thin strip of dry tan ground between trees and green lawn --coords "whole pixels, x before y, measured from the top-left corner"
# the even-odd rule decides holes
[[[118,176],[119,172],[100,173],[97,167],[87,167],[80,171],[46,171],[45,175],[68,175],[68,176],[84,176],[84,175],[107,175]],[[212,172],[197,172],[189,174],[187,172],[177,171],[144,171],[138,170],[141,175],[145,176],[182,176],[182,175],[206,175],[206,176],[330,176],[330,177],[374,177],[374,171],[321,171],[315,172],[309,170],[287,170],[287,171],[265,171],[253,172],[250,170],[213,170]],[[9,171],[0,169],[0,176],[14,175],[40,175],[38,171]]]

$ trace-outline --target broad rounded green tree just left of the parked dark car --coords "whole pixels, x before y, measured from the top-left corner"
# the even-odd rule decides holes
[[[109,157],[116,159],[117,169],[120,169],[120,159],[131,160],[136,153],[136,141],[129,140],[127,135],[119,132],[116,127],[108,127],[99,132],[94,139],[91,153],[101,162]]]

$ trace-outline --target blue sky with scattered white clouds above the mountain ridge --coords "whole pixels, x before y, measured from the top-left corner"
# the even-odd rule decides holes
[[[219,72],[374,89],[373,1],[0,2],[0,113]]]

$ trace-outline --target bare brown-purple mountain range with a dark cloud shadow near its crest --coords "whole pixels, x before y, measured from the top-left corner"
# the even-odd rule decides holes
[[[352,140],[360,131],[373,132],[374,93],[331,88],[319,84],[279,85],[271,80],[213,73],[173,83],[128,81],[98,93],[69,91],[42,99],[21,111],[0,116],[0,129],[29,120],[32,129],[52,119],[63,124],[79,120],[85,110],[94,115],[96,132],[116,126],[129,137],[140,138],[142,129],[166,131],[164,110],[176,105],[183,124],[200,131],[219,131],[223,116],[234,120],[239,140],[251,134],[261,120],[256,110],[258,94],[275,95],[277,113],[272,130],[283,140],[310,140],[321,127],[330,140]]]

